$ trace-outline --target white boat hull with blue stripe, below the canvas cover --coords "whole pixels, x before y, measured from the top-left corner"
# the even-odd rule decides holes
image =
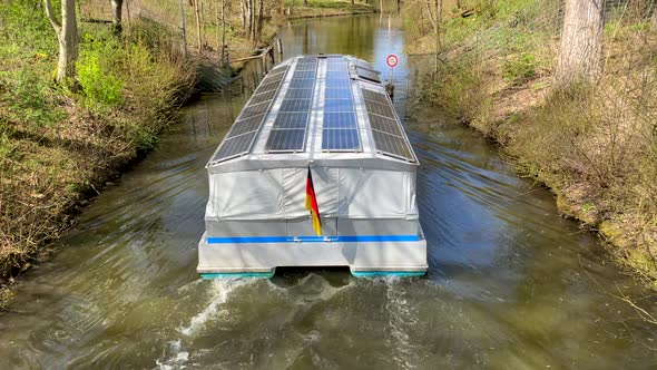
[[[205,279],[271,278],[283,266],[349,266],[359,278],[419,276],[426,272],[426,241],[420,235],[333,238],[208,237],[198,245],[197,272]]]

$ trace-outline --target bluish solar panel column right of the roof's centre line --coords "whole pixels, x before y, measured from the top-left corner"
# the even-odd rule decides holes
[[[357,128],[349,64],[342,57],[326,58],[322,150],[359,152]]]

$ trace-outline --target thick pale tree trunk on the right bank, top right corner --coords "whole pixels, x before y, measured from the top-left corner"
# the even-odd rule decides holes
[[[604,22],[605,0],[566,0],[556,88],[600,79]]]

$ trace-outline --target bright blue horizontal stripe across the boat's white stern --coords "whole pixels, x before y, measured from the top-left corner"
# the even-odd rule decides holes
[[[263,243],[372,243],[372,242],[418,242],[418,235],[344,235],[344,236],[227,236],[208,237],[208,244],[263,244]]]

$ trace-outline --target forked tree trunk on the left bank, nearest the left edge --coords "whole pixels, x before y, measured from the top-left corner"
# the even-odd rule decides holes
[[[50,0],[46,3],[46,14],[57,33],[59,41],[59,62],[57,65],[57,81],[61,82],[76,76],[78,60],[78,20],[75,0],[61,0],[61,22],[55,17]]]

